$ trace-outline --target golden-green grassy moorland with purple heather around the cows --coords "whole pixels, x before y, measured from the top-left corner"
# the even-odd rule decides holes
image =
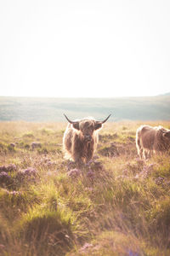
[[[0,123],[0,255],[170,255],[169,154],[139,160],[139,125],[106,123],[77,169],[66,123]]]

